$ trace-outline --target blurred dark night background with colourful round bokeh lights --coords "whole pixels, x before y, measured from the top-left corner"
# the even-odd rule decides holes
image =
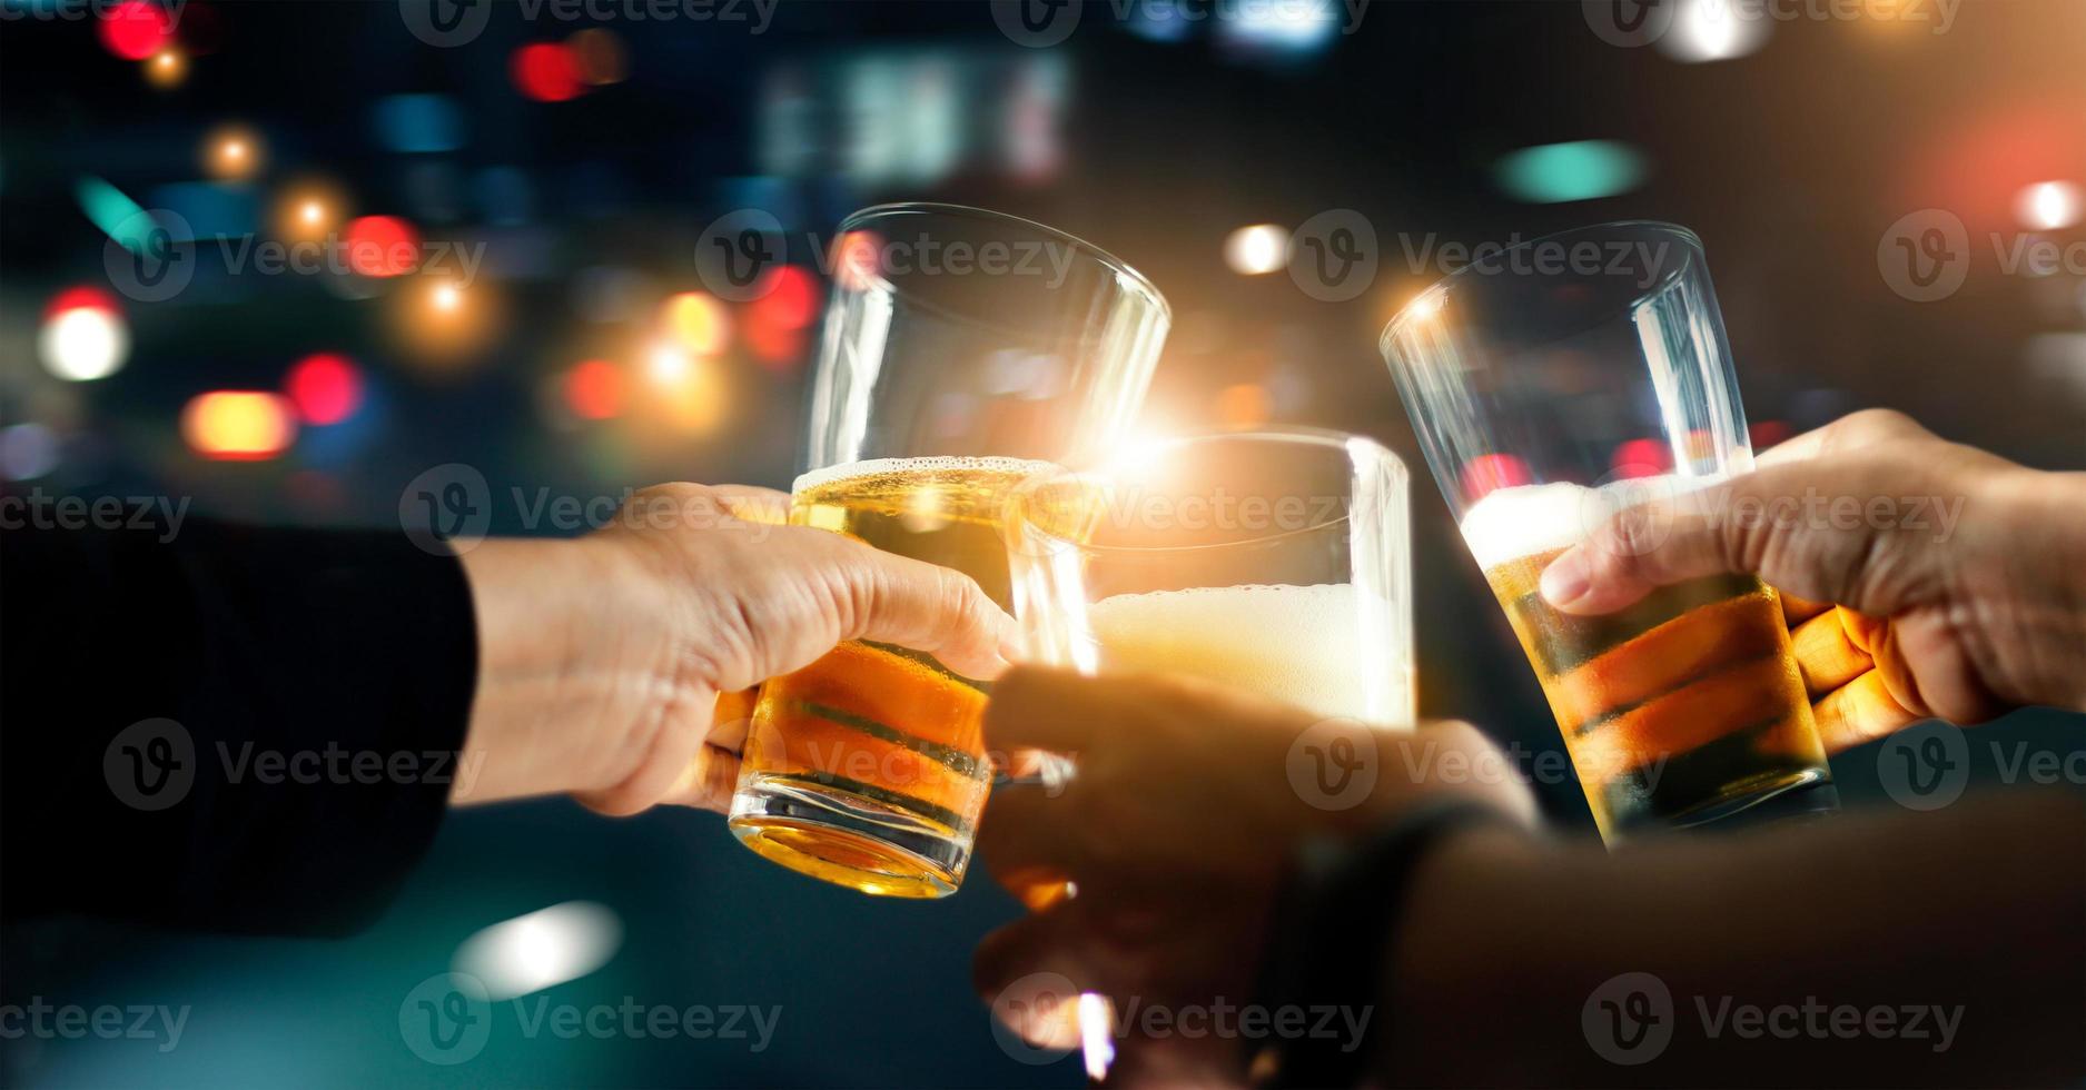
[[[2086,467],[2086,4],[1790,0],[1731,23],[1665,0],[1642,48],[1602,25],[1631,6],[1072,0],[1037,8],[1076,15],[1039,42],[983,0],[0,0],[4,488],[384,527],[407,481],[465,463],[503,534],[561,531],[517,490],[786,488],[834,225],[884,200],[980,204],[1166,292],[1154,427],[1308,423],[1398,450],[1423,713],[1558,748],[1375,350],[1452,267],[1441,246],[1685,223],[1761,444],[1894,406]],[[699,240],[745,208],[776,219],[791,265],[718,298]],[[1335,302],[1285,252],[1339,208],[1377,254]],[[1967,233],[1961,288],[1930,302],[1888,269],[1921,210]],[[169,238],[194,240],[177,292],[113,277],[113,240]],[[328,238],[350,261],[242,261]],[[2036,240],[2065,258],[2009,261]],[[1982,742],[2073,738],[2030,711],[1973,754],[1996,779]],[[1871,752],[1834,769],[1850,807],[1892,804]],[[1594,836],[1573,784],[1546,802]],[[774,1040],[528,1038],[503,1013],[469,1063],[417,1059],[407,992],[480,927],[565,900],[609,907],[624,938],[553,1002],[780,1005]],[[1078,1086],[1076,1059],[1010,1057],[970,992],[974,940],[1016,911],[983,875],[939,902],[818,884],[709,813],[463,811],[350,940],[13,925],[6,1002],[192,1017],[165,1055],[4,1040],[0,1082]]]

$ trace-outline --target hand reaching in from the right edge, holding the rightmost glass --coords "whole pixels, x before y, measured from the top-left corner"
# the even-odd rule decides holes
[[[2086,709],[2086,475],[1869,411],[1775,446],[1711,500],[1617,515],[1550,563],[1544,598],[1612,613],[1656,586],[1758,575],[1784,592],[1829,752],[1934,715]]]

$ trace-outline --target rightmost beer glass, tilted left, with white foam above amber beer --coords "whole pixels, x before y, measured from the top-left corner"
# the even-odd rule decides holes
[[[1610,223],[1491,252],[1400,311],[1381,350],[1602,836],[1834,809],[1773,588],[1702,577],[1606,617],[1537,592],[1619,513],[1640,534],[1600,540],[1642,548],[1646,513],[1721,517],[1715,486],[1752,469],[1702,242]]]

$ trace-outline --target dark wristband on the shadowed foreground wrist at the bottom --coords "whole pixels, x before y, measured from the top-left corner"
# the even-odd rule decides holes
[[[1491,807],[1441,800],[1360,842],[1308,842],[1275,911],[1260,971],[1264,1009],[1337,1009],[1348,1011],[1343,1023],[1373,1009],[1414,867],[1448,834],[1496,821],[1504,815]],[[1373,1044],[1385,1036],[1383,1021],[1375,1011],[1358,1040],[1277,1040],[1272,1086],[1360,1086]]]

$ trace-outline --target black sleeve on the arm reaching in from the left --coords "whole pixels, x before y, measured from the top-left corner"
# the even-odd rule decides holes
[[[0,529],[0,915],[369,923],[442,819],[469,588],[403,534]]]

